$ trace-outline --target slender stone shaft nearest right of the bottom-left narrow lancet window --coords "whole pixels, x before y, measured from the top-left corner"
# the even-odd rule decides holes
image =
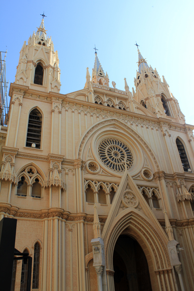
[[[42,291],[47,291],[47,252],[48,252],[48,219],[44,220],[43,262],[42,262]]]

